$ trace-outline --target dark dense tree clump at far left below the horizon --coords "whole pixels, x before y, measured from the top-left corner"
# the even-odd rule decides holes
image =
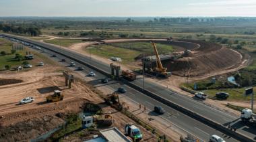
[[[42,32],[38,27],[23,27],[18,25],[0,24],[0,30],[5,33],[19,33],[29,36],[39,36]]]

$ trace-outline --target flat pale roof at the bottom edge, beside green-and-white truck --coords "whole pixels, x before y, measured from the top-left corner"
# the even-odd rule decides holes
[[[110,129],[104,129],[100,131],[102,135],[110,142],[130,142],[130,140],[123,135],[116,127],[110,128]]]

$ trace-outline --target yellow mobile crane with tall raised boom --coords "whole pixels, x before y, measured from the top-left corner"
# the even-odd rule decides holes
[[[171,72],[166,72],[167,68],[164,68],[162,66],[162,62],[160,60],[158,50],[156,48],[156,43],[152,42],[151,44],[152,44],[152,46],[154,48],[154,52],[156,54],[156,68],[151,68],[150,72],[152,72],[152,74],[154,74],[156,76],[165,77],[165,78],[167,78],[168,76],[171,76]]]

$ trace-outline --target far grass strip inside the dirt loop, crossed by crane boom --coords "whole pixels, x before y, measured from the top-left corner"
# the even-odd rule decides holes
[[[115,43],[110,45],[117,46],[119,48],[136,50],[143,53],[154,54],[154,49],[152,47],[152,44],[150,44],[149,42],[125,42],[125,43]],[[156,47],[158,48],[159,54],[173,52],[173,48],[170,45],[156,44]]]

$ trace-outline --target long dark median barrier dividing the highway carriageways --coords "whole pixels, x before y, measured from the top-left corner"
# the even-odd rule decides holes
[[[0,33],[0,35],[8,37],[8,38],[13,38],[11,36],[7,36],[7,35],[1,34],[1,33]],[[40,44],[36,44],[36,42],[33,42],[32,40],[24,40],[22,38],[15,38],[15,39],[21,40],[23,42],[28,42],[30,44],[34,44],[36,46],[41,46]],[[46,48],[46,47],[43,47],[43,48]],[[83,62],[81,60],[77,60],[76,58],[73,58],[71,56],[63,54],[63,53],[58,52],[56,50],[53,50],[51,48],[46,48],[46,49],[51,50],[52,52],[55,52],[57,54],[61,54],[62,56],[70,58],[70,59],[72,59],[76,62],[79,62],[80,64],[84,64],[84,65],[86,65],[86,66],[88,66],[88,67],[106,75],[106,76],[110,76],[110,74],[108,72],[105,72],[104,70],[100,70],[99,68],[96,68],[95,66],[92,66],[92,65],[90,65],[86,62]],[[170,100],[166,100],[165,98],[162,98],[162,96],[159,96],[158,94],[155,94],[154,92],[150,92],[149,90],[145,90],[145,89],[141,88],[140,86],[137,86],[136,84],[133,84],[132,82],[129,82],[129,81],[123,79],[123,78],[121,78],[121,81],[123,81],[125,84],[127,84],[131,88],[134,88],[135,90],[138,90],[139,92],[142,92],[143,94],[146,94],[147,96],[150,96],[151,98],[154,98],[155,100],[158,100],[158,101],[162,102],[163,104],[166,104],[167,106],[170,106],[170,107],[176,109],[177,111],[180,111],[181,113],[184,113],[185,115],[188,115],[189,117],[192,117],[193,119],[196,119],[196,120],[198,120],[202,123],[205,123],[206,125],[210,125],[210,127],[218,129],[218,131],[221,131],[222,133],[226,133],[227,135],[230,135],[230,136],[234,137],[235,139],[238,139],[239,141],[253,141],[253,139],[250,139],[246,135],[231,131],[227,127],[224,127],[221,124],[216,123],[215,121],[212,121],[211,119],[207,119],[207,118],[205,118],[205,117],[203,117],[203,116],[201,116],[201,115],[199,115],[199,114],[197,114],[197,113],[195,113],[195,112],[193,112],[189,109],[186,109],[186,108],[180,106],[179,104],[171,102]]]

